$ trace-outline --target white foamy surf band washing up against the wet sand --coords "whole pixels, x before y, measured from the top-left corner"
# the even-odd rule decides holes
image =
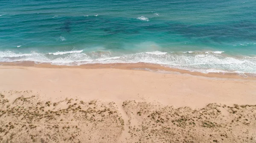
[[[118,55],[119,54],[119,55]],[[227,56],[224,51],[140,52],[120,54],[110,51],[83,50],[55,53],[0,52],[0,62],[34,61],[54,65],[151,63],[201,73],[256,73],[256,57]]]

